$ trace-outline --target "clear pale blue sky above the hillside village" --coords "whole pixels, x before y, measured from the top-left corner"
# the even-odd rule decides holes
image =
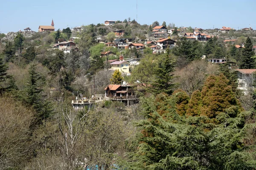
[[[1,0],[0,32],[39,25],[55,28],[136,19],[136,0]],[[256,29],[256,0],[138,0],[138,23],[175,23],[198,28]]]

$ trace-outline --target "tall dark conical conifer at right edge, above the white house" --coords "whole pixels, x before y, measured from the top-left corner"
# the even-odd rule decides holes
[[[246,42],[244,44],[244,49],[242,51],[242,58],[241,58],[241,65],[239,68],[241,69],[252,69],[255,68],[255,61],[252,58],[254,53],[252,51],[253,49],[253,43],[248,37],[246,39]]]

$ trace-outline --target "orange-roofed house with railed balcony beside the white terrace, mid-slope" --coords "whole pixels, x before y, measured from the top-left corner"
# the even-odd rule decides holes
[[[126,82],[123,82],[122,85],[108,85],[105,90],[105,98],[110,100],[118,100],[121,102],[126,101],[127,105],[129,102],[133,103],[137,101],[137,96],[135,93],[135,88],[137,85],[129,85]]]

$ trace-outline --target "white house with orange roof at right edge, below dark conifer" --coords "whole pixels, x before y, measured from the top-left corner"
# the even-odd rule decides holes
[[[253,87],[256,69],[236,69],[236,71],[238,71],[238,89],[243,90],[244,94],[247,94],[248,90]]]

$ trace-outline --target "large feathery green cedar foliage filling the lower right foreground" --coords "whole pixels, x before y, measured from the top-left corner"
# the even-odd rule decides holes
[[[247,152],[245,115],[236,106],[217,116],[218,125],[206,117],[184,117],[175,111],[175,97],[159,94],[141,100],[141,113],[127,169],[219,170],[254,169],[254,152]],[[252,145],[250,146],[254,148]],[[252,149],[255,150],[255,149]]]

